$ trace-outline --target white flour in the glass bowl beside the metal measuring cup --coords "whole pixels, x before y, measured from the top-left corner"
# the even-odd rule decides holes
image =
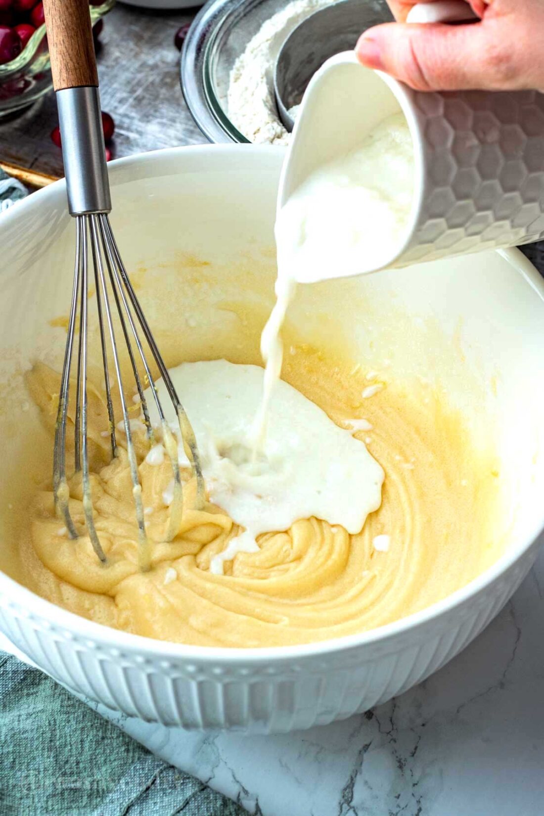
[[[274,64],[285,38],[330,0],[293,0],[266,20],[232,67],[228,84],[228,117],[256,144],[289,144],[290,134],[278,118],[274,99]]]

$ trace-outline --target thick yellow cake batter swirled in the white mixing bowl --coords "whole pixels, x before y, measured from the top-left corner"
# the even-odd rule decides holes
[[[248,343],[246,358],[254,357],[257,342],[254,337]],[[243,350],[239,353],[243,359]],[[257,552],[238,552],[225,562],[224,574],[214,574],[211,561],[240,534],[239,526],[216,503],[194,509],[195,480],[186,468],[183,521],[168,542],[164,494],[172,478],[170,461],[148,463],[148,442],[136,432],[152,564],[140,570],[129,465],[124,451],[110,462],[107,407],[97,383],[89,419],[91,471],[95,524],[108,563],[100,564],[86,534],[77,542],[69,539],[55,516],[45,472],[31,522],[25,515],[19,534],[27,586],[77,614],[166,641],[292,645],[363,632],[421,610],[464,586],[502,553],[497,459],[493,451],[478,449],[439,388],[403,388],[387,373],[296,343],[283,376],[341,427],[350,424],[347,417],[365,413],[367,429],[354,436],[361,446],[366,441],[385,481],[381,504],[360,532],[348,534],[319,517],[301,518],[288,530],[261,534]],[[51,432],[59,375],[37,364],[27,383]],[[319,438],[312,441],[320,445]],[[334,461],[329,465],[334,468]],[[302,462],[299,467],[302,471]],[[361,484],[360,502],[364,489]],[[73,519],[85,530],[81,477],[73,477],[70,495]]]

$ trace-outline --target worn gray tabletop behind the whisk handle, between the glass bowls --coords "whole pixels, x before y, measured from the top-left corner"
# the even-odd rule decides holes
[[[184,102],[174,46],[175,32],[197,11],[144,11],[119,2],[104,17],[98,66],[102,109],[116,123],[113,157],[206,141]],[[56,124],[53,91],[24,113],[0,119],[0,162],[64,175],[50,138]]]

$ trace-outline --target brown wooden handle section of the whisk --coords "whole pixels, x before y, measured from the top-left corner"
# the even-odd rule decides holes
[[[55,91],[98,86],[88,0],[43,0]]]

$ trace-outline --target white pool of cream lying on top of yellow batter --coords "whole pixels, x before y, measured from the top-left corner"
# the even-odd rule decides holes
[[[262,400],[262,368],[226,360],[189,362],[170,370],[170,377],[192,418],[210,501],[244,528],[212,559],[213,572],[222,573],[223,562],[237,552],[257,552],[260,534],[289,530],[300,518],[315,516],[355,534],[378,509],[383,469],[364,442],[338,428],[290,384],[277,381],[266,433],[253,456],[250,430]],[[158,393],[168,406],[162,379]],[[157,426],[151,393],[146,397]],[[174,419],[173,411],[166,419]],[[189,466],[182,444],[179,459]]]

